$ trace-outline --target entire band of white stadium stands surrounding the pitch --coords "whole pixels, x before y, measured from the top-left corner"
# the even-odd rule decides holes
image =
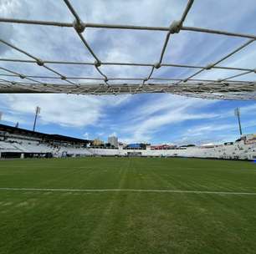
[[[226,160],[255,160],[256,135],[243,135],[222,145],[119,145],[118,148],[90,145],[63,135],[49,135],[0,124],[0,158],[66,157],[66,156],[157,156],[196,157]]]

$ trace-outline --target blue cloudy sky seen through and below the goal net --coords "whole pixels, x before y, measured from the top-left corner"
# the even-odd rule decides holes
[[[85,23],[164,27],[181,17],[187,4],[185,0],[70,2]],[[0,0],[0,17],[73,22],[62,0]],[[196,0],[184,25],[256,34],[255,17],[255,0]],[[102,28],[85,28],[83,34],[101,61],[139,63],[156,63],[166,36],[166,32]],[[72,28],[0,23],[0,38],[44,60],[94,62]],[[163,63],[211,64],[246,41],[244,38],[182,31],[170,38]],[[0,43],[0,58],[28,59],[3,43]],[[221,65],[255,68],[255,58],[256,43],[251,43]],[[93,66],[49,66],[71,77],[100,78]],[[27,75],[53,76],[36,64],[0,61],[0,67]],[[100,70],[112,78],[145,78],[150,73],[149,67],[100,66]],[[153,77],[183,79],[194,72],[161,67],[154,71]],[[197,78],[223,79],[239,73],[211,69]],[[7,73],[0,69],[0,74]],[[255,80],[255,76],[248,74],[236,79]],[[13,77],[4,76],[4,79],[20,81]],[[236,107],[241,110],[243,133],[256,133],[255,100],[194,99],[172,94],[0,94],[0,112],[3,112],[0,122],[9,125],[18,122],[19,127],[31,130],[36,106],[41,107],[36,130],[89,140],[106,141],[109,135],[117,135],[125,143],[202,145],[233,141],[239,136],[238,120],[233,114]]]

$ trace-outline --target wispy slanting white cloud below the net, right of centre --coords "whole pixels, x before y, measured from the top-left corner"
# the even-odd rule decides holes
[[[168,94],[161,96],[161,99],[152,99],[137,106],[135,113],[127,119],[127,126],[122,128],[121,138],[125,142],[135,140],[148,142],[152,135],[167,124],[177,124],[192,119],[212,119],[218,115],[203,114],[199,109],[214,103],[217,101],[181,99]]]

